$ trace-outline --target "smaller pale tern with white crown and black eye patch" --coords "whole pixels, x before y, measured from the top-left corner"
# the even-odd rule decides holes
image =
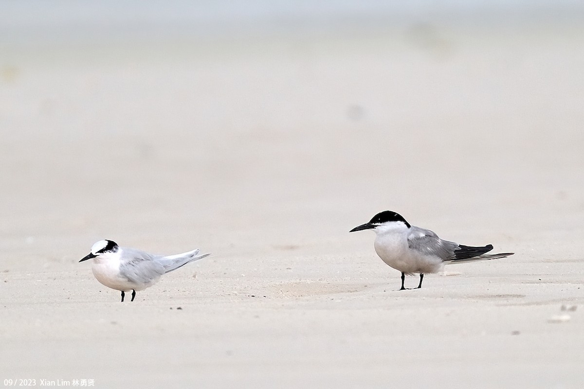
[[[79,262],[93,258],[91,269],[95,278],[108,288],[120,290],[121,301],[124,302],[124,292],[131,290],[130,301],[134,301],[136,290],[144,290],[154,285],[161,275],[210,255],[197,254],[198,248],[188,253],[162,257],[135,248],[120,247],[112,240],[100,240],[91,246],[91,253]]]

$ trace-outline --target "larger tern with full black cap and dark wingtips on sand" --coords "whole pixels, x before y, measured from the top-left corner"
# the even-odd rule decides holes
[[[426,273],[442,271],[444,264],[460,264],[471,261],[495,260],[514,253],[485,254],[493,250],[483,247],[463,246],[440,239],[436,233],[412,226],[393,211],[383,211],[373,216],[369,223],[354,227],[349,232],[372,229],[376,234],[375,251],[386,264],[401,271],[404,290],[405,275],[420,275],[418,288]]]

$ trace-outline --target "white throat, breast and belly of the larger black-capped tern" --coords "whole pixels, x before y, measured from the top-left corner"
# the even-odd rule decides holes
[[[374,232],[377,234],[375,251],[392,268],[410,275],[437,273],[444,268],[444,262],[436,255],[426,255],[409,248],[409,228],[404,222],[385,222]]]

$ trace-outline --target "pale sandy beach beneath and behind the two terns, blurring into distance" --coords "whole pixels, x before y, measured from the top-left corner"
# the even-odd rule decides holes
[[[13,42],[0,386],[584,387],[581,23]],[[399,291],[385,209],[516,254]],[[120,303],[100,239],[213,255]]]

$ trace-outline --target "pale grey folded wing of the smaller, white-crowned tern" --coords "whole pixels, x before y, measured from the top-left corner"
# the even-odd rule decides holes
[[[156,259],[157,255],[144,251],[123,248],[120,275],[131,282],[149,284],[164,274],[164,267]]]

